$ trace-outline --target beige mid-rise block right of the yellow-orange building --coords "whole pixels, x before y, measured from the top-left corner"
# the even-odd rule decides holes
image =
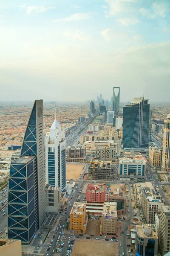
[[[117,203],[104,203],[100,224],[101,235],[116,235],[117,229]]]

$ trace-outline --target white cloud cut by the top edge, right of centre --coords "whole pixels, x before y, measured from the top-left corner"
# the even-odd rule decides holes
[[[108,3],[110,11],[106,17],[118,15],[122,12],[133,12],[134,8],[131,3],[136,3],[136,0],[105,0]]]

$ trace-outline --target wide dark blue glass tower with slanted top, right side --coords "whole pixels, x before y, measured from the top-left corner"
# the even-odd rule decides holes
[[[123,147],[143,148],[149,144],[150,105],[143,97],[134,98],[123,108]]]

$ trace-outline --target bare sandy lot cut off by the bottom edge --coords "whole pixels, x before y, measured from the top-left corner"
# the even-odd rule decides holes
[[[76,241],[71,253],[74,256],[117,256],[116,244],[108,241],[79,240]]]

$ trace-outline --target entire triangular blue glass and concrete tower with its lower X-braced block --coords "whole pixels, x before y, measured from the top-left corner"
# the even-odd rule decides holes
[[[28,245],[45,219],[43,103],[35,100],[21,148],[11,162],[8,188],[8,238]]]

